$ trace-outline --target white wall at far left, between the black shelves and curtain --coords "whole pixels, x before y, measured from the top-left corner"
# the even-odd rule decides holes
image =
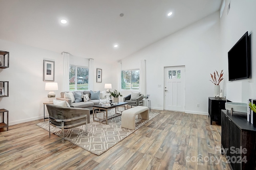
[[[9,125],[42,119],[43,102],[49,101],[44,90],[43,60],[55,61],[55,82],[60,96],[63,61],[60,53],[0,40],[2,51],[10,52],[10,67],[0,69],[0,80],[9,81],[9,97],[0,98],[0,108],[9,111]],[[2,119],[2,118],[1,118]]]

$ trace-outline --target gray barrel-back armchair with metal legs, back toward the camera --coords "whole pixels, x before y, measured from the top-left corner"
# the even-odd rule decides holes
[[[49,136],[50,125],[61,128],[62,143],[64,142],[64,129],[75,128],[90,123],[90,110],[76,107],[60,107],[53,104],[46,105],[49,113]]]

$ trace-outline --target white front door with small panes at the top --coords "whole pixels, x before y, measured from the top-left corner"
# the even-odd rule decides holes
[[[185,66],[164,67],[164,110],[185,111]]]

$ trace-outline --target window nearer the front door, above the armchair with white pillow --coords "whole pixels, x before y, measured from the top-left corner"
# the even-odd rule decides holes
[[[122,90],[138,90],[140,84],[140,70],[122,70]]]

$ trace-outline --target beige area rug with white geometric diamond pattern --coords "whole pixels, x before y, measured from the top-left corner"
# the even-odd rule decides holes
[[[113,114],[114,109],[108,111]],[[77,146],[92,152],[93,154],[100,155],[110,149],[112,146],[132,134],[138,128],[142,127],[148,121],[156,117],[159,113],[150,111],[149,120],[135,118],[135,130],[127,128],[121,128],[121,115],[108,119],[108,125],[99,123],[92,120],[92,114],[90,115],[90,123],[87,126],[87,134],[85,132],[85,125],[80,127],[65,129],[64,138],[69,142],[76,144]],[[41,128],[49,130],[48,121],[37,123]],[[53,134],[61,136],[61,129],[50,126],[50,131]]]

